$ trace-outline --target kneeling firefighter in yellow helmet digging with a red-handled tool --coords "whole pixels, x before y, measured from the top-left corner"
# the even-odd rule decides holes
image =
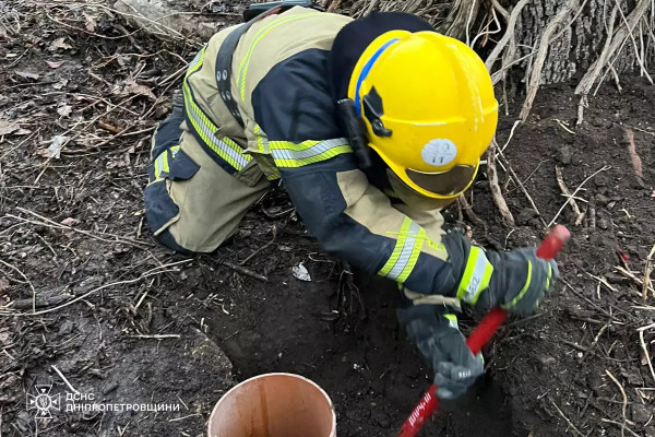
[[[483,374],[461,302],[535,311],[558,275],[534,248],[485,251],[439,210],[473,182],[498,103],[478,56],[405,13],[275,8],[214,35],[153,140],[156,238],[211,252],[282,184],[322,249],[397,282],[398,319],[453,399]]]

